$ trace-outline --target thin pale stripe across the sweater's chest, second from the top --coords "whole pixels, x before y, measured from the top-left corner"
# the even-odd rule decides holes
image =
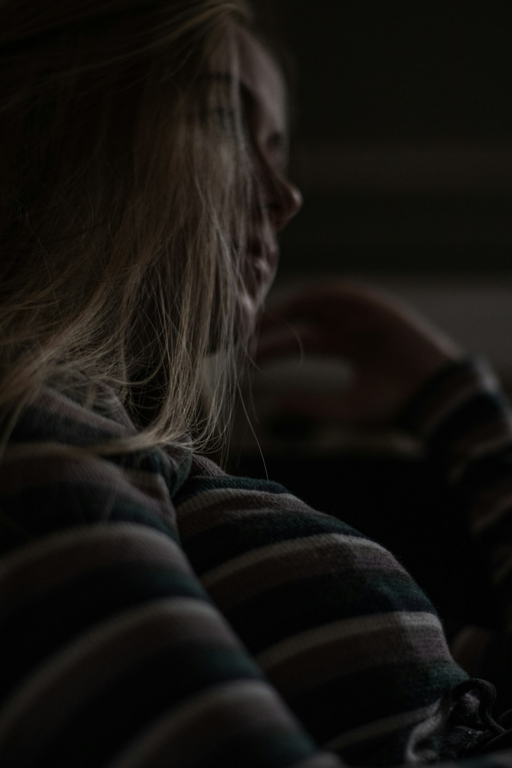
[[[403,570],[401,565],[395,561],[395,558],[393,558],[393,555],[390,554],[387,549],[371,539],[348,536],[341,533],[325,533],[286,539],[285,541],[278,541],[276,544],[269,544],[264,547],[252,549],[244,554],[239,554],[238,557],[232,558],[227,562],[218,565],[216,568],[212,568],[211,571],[206,571],[201,577],[201,581],[206,588],[210,588],[218,581],[229,578],[230,576],[239,573],[239,571],[243,571],[244,568],[250,568],[257,563],[271,559],[279,559],[282,558],[283,555],[300,554],[301,552],[307,552],[308,550],[318,550],[318,554],[321,556],[322,551],[319,550],[319,547],[332,544],[341,545],[341,547],[350,547],[352,550],[355,548],[372,549],[381,554],[385,554],[389,561],[394,561],[397,569],[401,571]],[[345,552],[340,548],[340,564],[342,564],[344,554]]]

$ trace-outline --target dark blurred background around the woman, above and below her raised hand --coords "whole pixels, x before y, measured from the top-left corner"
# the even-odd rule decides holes
[[[255,3],[289,71],[290,175],[305,198],[282,235],[276,290],[325,274],[397,290],[488,356],[512,392],[510,3]],[[312,366],[307,386],[320,387]],[[305,373],[255,376],[232,470],[279,480],[381,541],[448,635],[492,625],[484,564],[437,469],[393,435],[283,417],[272,398],[306,389]]]

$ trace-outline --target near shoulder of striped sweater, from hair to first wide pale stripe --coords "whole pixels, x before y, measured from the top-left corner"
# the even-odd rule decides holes
[[[102,454],[95,446],[136,430],[114,393],[94,406],[45,388],[24,409],[0,462],[4,551],[77,525],[130,522],[177,539],[171,491],[185,452]]]

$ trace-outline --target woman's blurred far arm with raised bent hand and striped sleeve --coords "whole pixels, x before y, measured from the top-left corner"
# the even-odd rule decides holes
[[[512,413],[494,375],[411,310],[347,283],[320,286],[273,310],[263,322],[259,359],[296,350],[297,336],[309,353],[348,360],[355,377],[335,402],[301,396],[296,409],[324,415],[329,409],[355,424],[399,424],[421,437],[448,482],[489,574],[494,629],[501,627],[467,628],[454,652],[471,674],[499,684],[499,700],[507,697]]]

